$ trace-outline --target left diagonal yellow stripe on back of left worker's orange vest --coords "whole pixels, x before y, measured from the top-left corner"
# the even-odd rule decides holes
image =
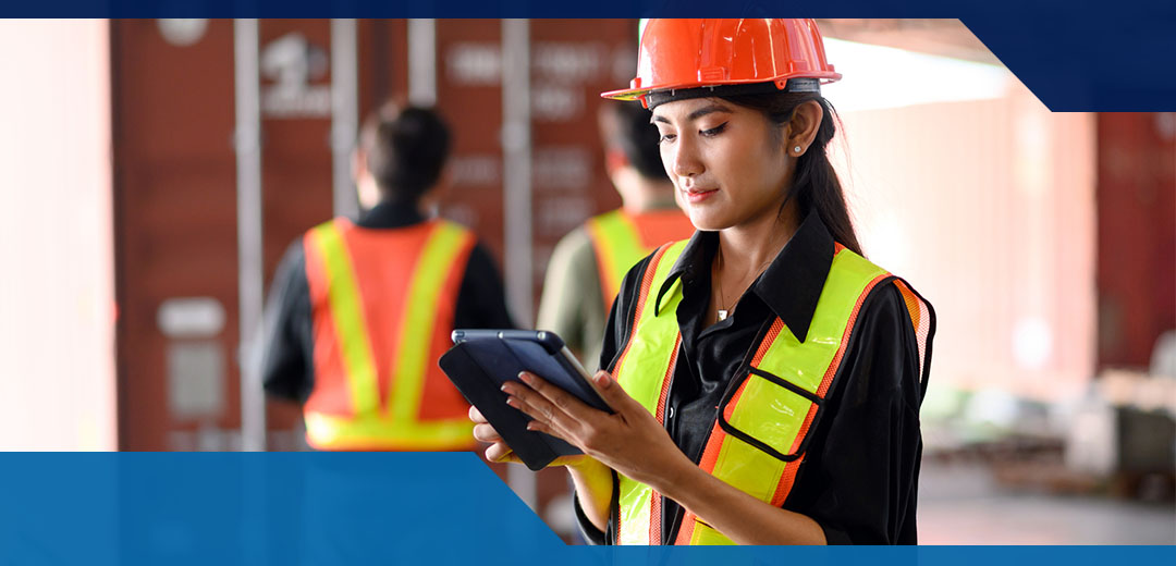
[[[312,231],[319,255],[326,265],[330,317],[335,322],[340,354],[347,369],[347,385],[355,414],[374,413],[379,408],[375,358],[367,334],[360,288],[355,282],[352,254],[335,222],[325,222]]]

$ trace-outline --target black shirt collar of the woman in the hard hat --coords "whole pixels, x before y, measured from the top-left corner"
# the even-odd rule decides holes
[[[689,285],[710,277],[710,264],[719,249],[719,233],[697,231],[670,268],[657,292],[660,307],[664,294],[679,278]],[[768,265],[750,291],[788,326],[801,342],[808,337],[817,299],[833,265],[834,241],[816,212],[810,212],[796,233]]]

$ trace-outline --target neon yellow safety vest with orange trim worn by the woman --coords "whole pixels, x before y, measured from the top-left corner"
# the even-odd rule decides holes
[[[614,375],[662,422],[679,342],[675,281],[660,305],[657,291],[684,242],[655,254],[642,280],[632,335]],[[804,457],[808,431],[820,414],[862,301],[889,274],[837,245],[808,335],[800,342],[779,318],[762,329],[755,355],[741,367],[720,402],[699,466],[775,507],[783,504]],[[648,299],[648,300],[647,300]],[[661,495],[620,475],[617,544],[661,544]],[[731,540],[686,513],[675,544],[717,545]]]

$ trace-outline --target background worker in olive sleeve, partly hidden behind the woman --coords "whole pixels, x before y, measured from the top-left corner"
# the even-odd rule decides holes
[[[662,167],[649,111],[640,102],[606,105],[600,128],[604,168],[623,205],[589,219],[555,246],[537,321],[593,366],[624,274],[657,246],[694,233]]]

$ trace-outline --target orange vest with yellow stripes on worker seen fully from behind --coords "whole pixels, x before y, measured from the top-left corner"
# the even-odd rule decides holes
[[[314,389],[303,417],[310,446],[474,446],[469,405],[436,364],[450,346],[474,242],[468,229],[445,220],[367,229],[338,218],[306,233]]]

